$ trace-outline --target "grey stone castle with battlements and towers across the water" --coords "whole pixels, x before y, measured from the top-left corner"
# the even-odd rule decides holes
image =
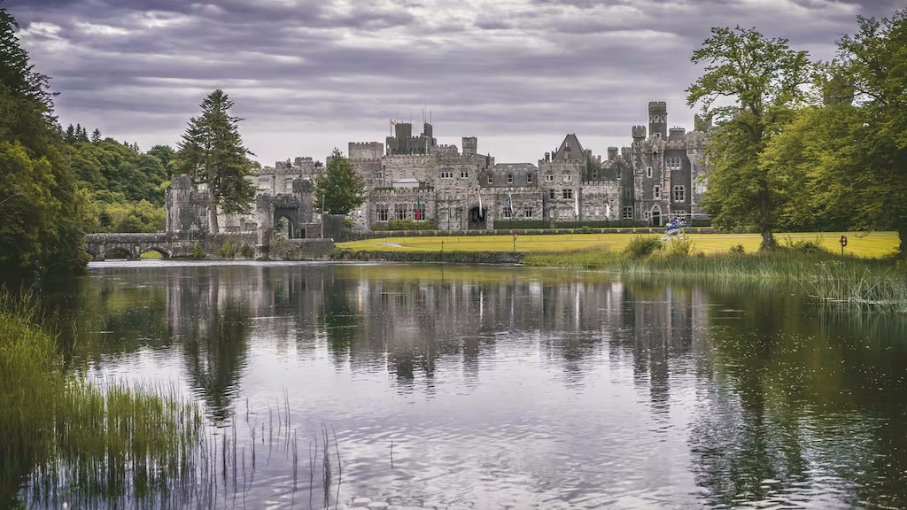
[[[583,148],[571,133],[537,164],[497,163],[478,152],[474,137],[463,137],[461,149],[439,145],[430,123],[419,135],[411,123],[394,128],[384,143],[349,143],[349,161],[367,193],[351,214],[356,230],[405,219],[434,220],[438,230],[454,231],[506,229],[511,221],[634,221],[658,227],[670,218],[703,215],[706,132],[668,129],[664,102],[649,103],[648,132],[645,125],[632,126],[632,143],[609,147],[605,158]],[[323,171],[311,158],[258,169],[253,211],[221,215],[219,223],[227,231],[277,229],[291,238],[312,237],[318,224],[313,182]],[[200,204],[187,211],[191,201],[203,201],[190,188],[188,180],[173,181],[169,231],[207,229],[205,217],[198,215]]]

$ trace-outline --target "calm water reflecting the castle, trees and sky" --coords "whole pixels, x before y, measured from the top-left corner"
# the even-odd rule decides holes
[[[785,289],[139,262],[93,265],[54,299],[74,366],[172,382],[220,430],[239,428],[240,447],[249,427],[276,427],[268,407],[286,391],[297,490],[272,448],[243,483],[249,508],[321,505],[308,452],[322,423],[336,431],[341,500],[907,506],[907,326]]]

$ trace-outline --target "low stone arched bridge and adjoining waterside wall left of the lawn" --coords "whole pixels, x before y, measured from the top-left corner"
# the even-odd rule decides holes
[[[254,231],[213,235],[102,233],[86,235],[85,250],[93,260],[137,260],[146,251],[157,251],[163,259],[323,260],[334,250],[331,239],[285,239],[275,246],[269,246],[270,236],[266,239],[260,242]]]

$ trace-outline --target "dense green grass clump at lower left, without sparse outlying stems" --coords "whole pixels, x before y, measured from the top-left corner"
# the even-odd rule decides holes
[[[0,290],[0,506],[170,490],[192,468],[198,407],[172,389],[101,387],[66,371],[37,310]]]

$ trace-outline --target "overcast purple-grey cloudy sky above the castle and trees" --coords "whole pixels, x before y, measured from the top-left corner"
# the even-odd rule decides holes
[[[2,0],[0,0],[2,1]],[[576,132],[629,143],[649,101],[691,127],[689,57],[711,26],[755,26],[815,58],[907,0],[6,0],[62,123],[175,144],[223,88],[264,164],[383,142],[431,112],[441,143],[478,136],[535,162]]]

